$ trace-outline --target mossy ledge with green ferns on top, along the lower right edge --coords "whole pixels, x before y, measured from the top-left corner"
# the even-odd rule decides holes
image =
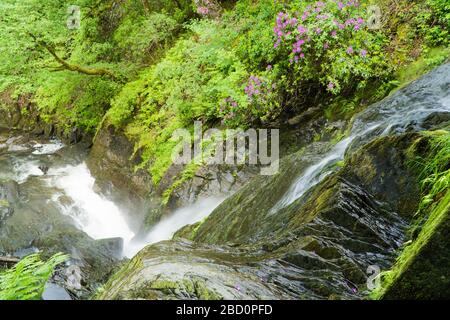
[[[421,205],[391,270],[373,299],[448,299],[450,297],[450,133],[423,132],[409,150],[420,172]]]

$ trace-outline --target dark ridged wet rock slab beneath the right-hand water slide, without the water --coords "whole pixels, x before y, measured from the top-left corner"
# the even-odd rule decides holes
[[[389,267],[403,241],[409,215],[397,214],[405,204],[395,196],[407,188],[417,191],[416,177],[402,156],[415,138],[408,134],[374,141],[314,188],[306,201],[276,215],[268,213],[273,199],[265,191],[277,190],[285,179],[256,178],[200,226],[181,232],[194,243],[179,239],[147,247],[99,298],[362,297],[368,266]],[[385,152],[392,151],[396,159],[386,157]],[[292,158],[283,166],[286,175]],[[370,176],[361,179],[367,162],[358,166],[353,162],[357,158],[370,160],[371,167],[364,169],[371,170]],[[382,179],[388,168],[403,174],[389,187],[392,181]],[[255,185],[262,186],[261,192],[254,192]],[[365,185],[372,185],[373,193]]]

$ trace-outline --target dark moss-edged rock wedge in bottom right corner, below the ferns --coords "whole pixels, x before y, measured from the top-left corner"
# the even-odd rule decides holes
[[[450,297],[450,190],[432,209],[417,238],[407,244],[394,267],[382,275],[374,299]]]

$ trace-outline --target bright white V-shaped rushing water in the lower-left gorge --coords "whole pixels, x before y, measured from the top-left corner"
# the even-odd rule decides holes
[[[179,209],[154,226],[146,236],[133,240],[136,233],[130,228],[125,214],[114,202],[95,191],[95,179],[85,163],[50,169],[48,182],[62,191],[53,201],[79,229],[97,240],[122,238],[123,254],[130,258],[146,245],[171,239],[180,228],[201,221],[223,201],[223,198],[207,198]],[[66,197],[71,201],[65,200]]]

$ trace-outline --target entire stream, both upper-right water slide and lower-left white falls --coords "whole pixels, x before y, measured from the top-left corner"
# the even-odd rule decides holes
[[[331,174],[334,165],[352,148],[375,137],[421,130],[423,120],[431,114],[450,112],[450,64],[437,72],[442,73],[441,77],[426,76],[357,115],[347,137],[316,163],[303,168],[287,192],[266,207],[271,207],[268,214],[277,214],[301,198]],[[120,209],[120,204],[98,192],[95,178],[84,162],[85,156],[77,152],[76,146],[64,146],[58,140],[35,141],[17,132],[0,131],[0,181],[12,180],[23,187],[32,194],[33,201],[38,199],[43,212],[46,206],[57,208],[60,215],[69,217],[92,239],[122,238],[123,255],[127,257],[148,244],[172,238],[185,225],[205,219],[224,200],[207,198],[181,208],[147,235],[137,238],[139,230],[130,224],[130,217]]]

